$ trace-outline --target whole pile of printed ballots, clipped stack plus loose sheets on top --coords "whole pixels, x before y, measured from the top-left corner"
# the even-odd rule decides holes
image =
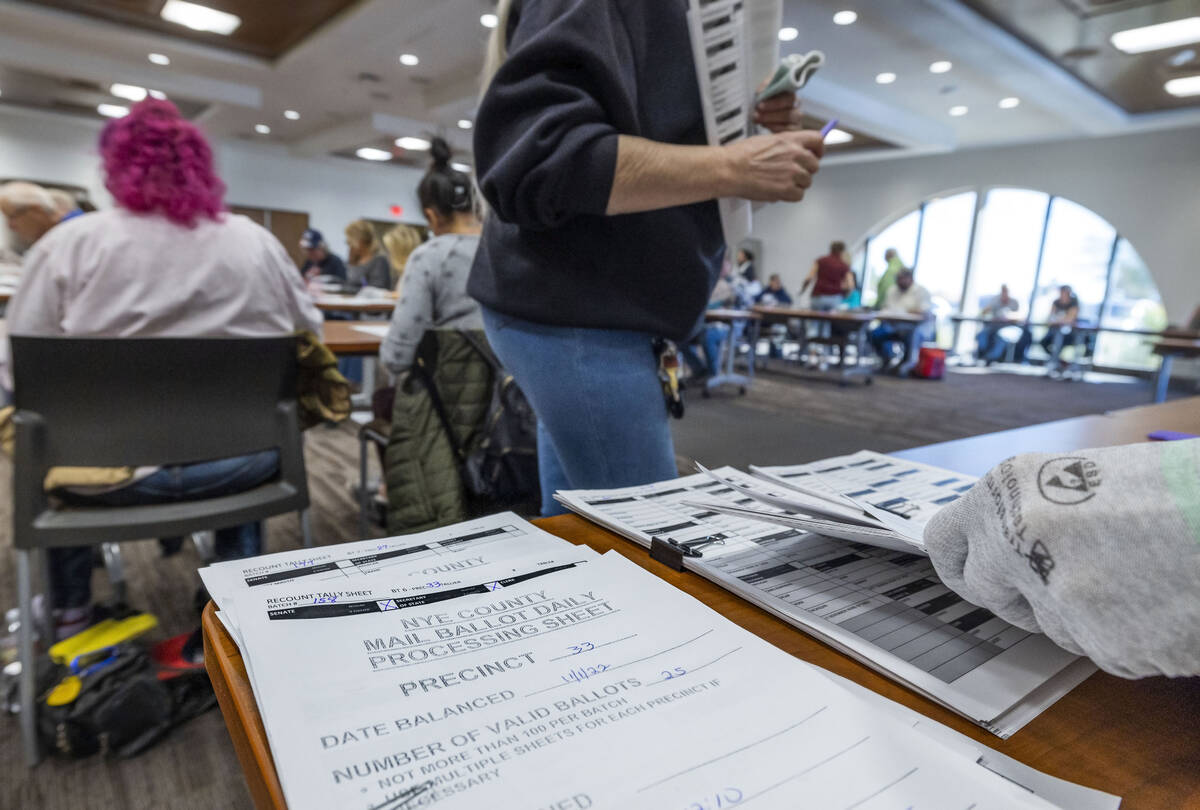
[[[809,466],[838,474],[852,464],[828,491],[814,481],[838,479],[808,475],[799,492],[778,485],[794,480],[786,478],[791,468],[769,470],[770,482],[722,468],[556,497],[642,545],[661,538],[694,546],[701,556],[684,558],[690,570],[1008,737],[1096,666],[964,601],[937,578],[911,526],[928,520],[926,487],[958,497],[968,479],[954,484],[946,473],[901,462],[881,469],[878,458],[859,454]],[[889,473],[907,494],[881,500],[888,481],[881,476]],[[824,498],[823,511],[794,514],[803,508],[792,503],[796,496]],[[901,497],[914,504],[908,521],[888,512],[900,509]]]

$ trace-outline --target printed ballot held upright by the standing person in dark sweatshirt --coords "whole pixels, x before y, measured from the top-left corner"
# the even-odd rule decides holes
[[[743,0],[690,0],[688,26],[709,145],[724,146],[748,137],[752,96]],[[742,244],[752,227],[750,202],[724,198],[718,205],[725,244]]]

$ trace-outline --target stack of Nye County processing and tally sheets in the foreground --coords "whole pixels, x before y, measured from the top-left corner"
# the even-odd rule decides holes
[[[1116,806],[512,514],[202,575],[292,810]]]

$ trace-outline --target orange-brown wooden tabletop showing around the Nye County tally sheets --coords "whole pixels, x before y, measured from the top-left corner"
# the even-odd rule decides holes
[[[1122,680],[1097,673],[1007,740],[919,697],[730,592],[650,560],[581,517],[538,524],[598,552],[614,550],[780,649],[850,678],[1054,776],[1124,797],[1124,810],[1200,806],[1200,679]],[[246,667],[236,644],[204,611],[204,661],[256,806],[286,808]]]

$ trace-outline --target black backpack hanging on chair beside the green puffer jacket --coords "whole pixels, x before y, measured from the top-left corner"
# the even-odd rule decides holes
[[[469,332],[460,331],[492,370],[492,397],[487,412],[463,446],[455,436],[433,376],[425,364],[414,370],[430,392],[433,409],[442,421],[463,487],[473,499],[499,505],[536,502],[538,418],[512,374],[500,366],[491,347]]]

